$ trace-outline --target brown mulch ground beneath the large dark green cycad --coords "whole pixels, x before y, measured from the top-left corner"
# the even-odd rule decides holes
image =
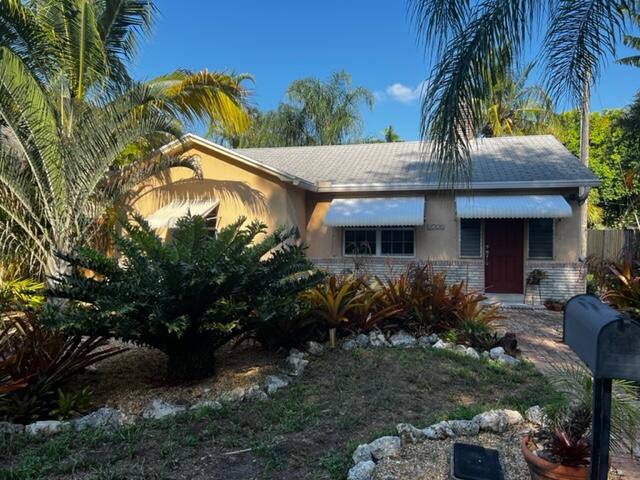
[[[156,398],[173,403],[212,400],[223,391],[262,383],[267,375],[277,373],[284,366],[283,357],[247,342],[219,351],[214,377],[172,385],[164,380],[167,360],[162,352],[113,343],[129,350],[100,362],[95,371],[83,374],[78,380],[81,386],[91,390],[96,407],[106,405],[134,414],[140,414]]]

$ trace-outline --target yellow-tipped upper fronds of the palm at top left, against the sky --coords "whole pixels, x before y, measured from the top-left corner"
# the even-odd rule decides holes
[[[128,66],[141,37],[153,27],[152,0],[0,1],[0,45],[6,45],[62,95],[87,100],[131,83]],[[223,124],[235,133],[248,127],[248,75],[177,70],[148,82],[156,107],[184,121]]]

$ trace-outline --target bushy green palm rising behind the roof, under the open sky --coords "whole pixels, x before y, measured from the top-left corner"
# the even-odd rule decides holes
[[[293,106],[305,119],[310,142],[315,145],[344,143],[362,127],[360,106],[373,108],[373,94],[364,87],[353,87],[344,70],[335,72],[327,82],[317,78],[296,80],[287,90]]]

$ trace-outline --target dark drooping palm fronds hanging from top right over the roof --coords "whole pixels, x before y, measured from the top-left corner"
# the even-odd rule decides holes
[[[422,103],[421,136],[433,141],[441,180],[454,182],[470,179],[468,132],[482,128],[482,101],[523,56],[539,27],[545,28],[541,56],[548,91],[568,96],[586,113],[589,87],[615,51],[624,29],[623,7],[630,2],[411,0],[410,5],[436,59]],[[637,8],[635,2],[631,6]]]

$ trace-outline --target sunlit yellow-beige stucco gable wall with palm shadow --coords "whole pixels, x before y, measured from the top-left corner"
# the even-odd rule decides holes
[[[174,168],[138,187],[133,202],[135,210],[147,216],[174,200],[218,199],[219,227],[245,216],[266,223],[269,229],[278,225],[298,226],[304,236],[304,190],[220,152],[204,147],[185,152],[185,156],[194,155],[200,160],[202,179],[194,179],[189,169]]]

